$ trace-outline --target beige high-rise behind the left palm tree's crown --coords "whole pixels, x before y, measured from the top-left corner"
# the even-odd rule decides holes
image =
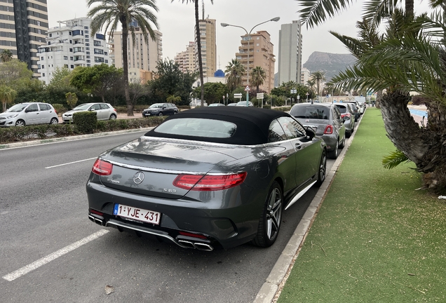
[[[137,25],[135,21],[133,25]],[[144,69],[156,72],[158,61],[163,60],[163,34],[154,30],[156,39],[153,41],[150,36],[145,41],[144,34],[140,27],[135,26],[135,43],[133,43],[132,34],[128,34],[127,50],[128,50],[128,68]],[[114,66],[123,67],[122,57],[122,32],[114,32],[113,39],[109,41],[112,60]]]

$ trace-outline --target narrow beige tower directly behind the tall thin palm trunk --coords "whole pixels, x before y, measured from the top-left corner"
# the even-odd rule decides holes
[[[217,70],[217,43],[215,35],[215,19],[199,20],[200,41],[201,41],[201,62],[203,65],[203,76],[213,76]],[[195,71],[199,71],[198,65],[198,43],[195,33]]]

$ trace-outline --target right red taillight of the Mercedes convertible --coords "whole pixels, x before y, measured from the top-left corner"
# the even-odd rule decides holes
[[[179,175],[173,181],[175,187],[194,191],[217,191],[236,187],[243,183],[246,172],[231,175]]]

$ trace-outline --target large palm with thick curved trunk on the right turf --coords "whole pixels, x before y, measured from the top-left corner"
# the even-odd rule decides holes
[[[405,11],[398,8],[396,2],[368,1],[365,4],[365,20],[374,26],[386,20],[389,24],[386,35],[376,45],[364,48],[356,65],[332,81],[344,88],[386,89],[381,98],[381,115],[389,139],[415,163],[417,170],[424,173],[426,187],[446,192],[442,139],[446,137],[446,7],[442,1],[431,1],[436,11],[430,18],[426,15],[414,17],[412,0],[405,1]],[[305,6],[309,1],[301,1],[301,4]],[[309,25],[318,24],[333,12],[332,8],[338,11],[337,8],[342,9],[345,4],[327,0],[318,8],[311,9],[307,5],[301,17]],[[325,15],[321,11],[329,13]],[[407,109],[412,91],[427,100],[426,127],[420,128]]]

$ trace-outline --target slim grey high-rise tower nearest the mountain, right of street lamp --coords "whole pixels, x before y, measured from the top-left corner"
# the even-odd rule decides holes
[[[300,21],[284,24],[279,31],[278,85],[301,83],[302,33]]]

